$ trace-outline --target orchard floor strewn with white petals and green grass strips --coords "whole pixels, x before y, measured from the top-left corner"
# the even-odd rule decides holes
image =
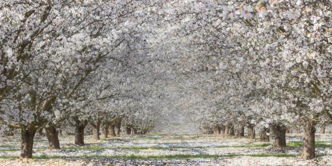
[[[316,135],[316,155],[298,157],[300,134],[287,136],[287,148],[276,149],[258,139],[217,135],[137,135],[73,144],[60,137],[60,150],[49,150],[45,137],[36,136],[32,159],[20,159],[20,139],[0,138],[0,165],[328,165],[332,163],[332,135]]]

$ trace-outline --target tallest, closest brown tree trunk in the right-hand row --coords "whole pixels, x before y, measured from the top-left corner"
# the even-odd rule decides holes
[[[304,137],[303,137],[303,159],[312,159],[315,157],[315,122],[308,120],[304,125]]]

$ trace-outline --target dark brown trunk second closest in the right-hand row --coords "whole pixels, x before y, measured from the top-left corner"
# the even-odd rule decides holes
[[[272,125],[275,147],[286,147],[286,127],[284,125]]]

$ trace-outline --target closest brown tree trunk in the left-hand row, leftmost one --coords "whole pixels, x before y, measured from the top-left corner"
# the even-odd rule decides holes
[[[21,157],[32,158],[33,138],[36,134],[36,129],[21,129]]]

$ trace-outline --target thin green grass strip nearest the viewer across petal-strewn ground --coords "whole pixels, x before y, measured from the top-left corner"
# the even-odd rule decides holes
[[[42,154],[39,156],[33,156],[35,159],[52,159],[52,158],[125,158],[125,159],[162,159],[162,158],[219,158],[219,157],[237,157],[237,156],[252,156],[252,157],[295,157],[297,154],[173,154],[173,155],[99,155],[99,154],[83,154],[83,155],[47,155]],[[15,155],[4,155],[0,158],[18,158]]]

